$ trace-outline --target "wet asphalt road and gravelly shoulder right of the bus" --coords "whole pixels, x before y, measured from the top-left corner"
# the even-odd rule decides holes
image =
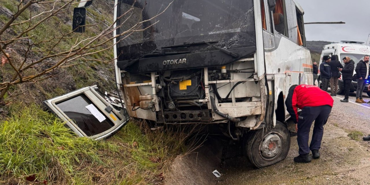
[[[324,126],[319,159],[307,164],[295,163],[293,157],[298,155],[298,145],[297,137],[292,137],[284,161],[255,169],[244,158],[230,159],[220,169],[222,176],[217,185],[369,184],[370,142],[361,138],[370,134],[370,104],[355,103],[354,93],[350,94],[348,103],[340,102],[343,98],[343,95],[333,97],[334,107]],[[363,98],[370,101],[366,94]],[[354,133],[359,135],[350,138]]]

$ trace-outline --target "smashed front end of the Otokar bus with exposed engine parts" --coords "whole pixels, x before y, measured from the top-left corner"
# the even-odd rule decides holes
[[[118,0],[116,80],[128,114],[258,128],[266,80],[254,9],[252,0]]]

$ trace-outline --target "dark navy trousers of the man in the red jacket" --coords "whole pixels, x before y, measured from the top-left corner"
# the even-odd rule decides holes
[[[297,141],[299,146],[299,154],[308,154],[310,150],[320,149],[321,141],[324,134],[324,124],[332,111],[329,105],[318,107],[304,107],[299,114],[298,119],[298,135]],[[315,121],[310,147],[308,140],[312,122]]]

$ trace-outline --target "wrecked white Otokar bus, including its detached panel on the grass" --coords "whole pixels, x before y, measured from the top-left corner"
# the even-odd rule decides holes
[[[115,40],[128,115],[157,125],[214,124],[243,144],[256,167],[282,161],[290,147],[289,87],[313,84],[303,14],[295,0],[115,0],[115,35],[143,22]],[[77,18],[84,23],[85,10]],[[89,135],[70,121],[79,135],[102,138],[125,123],[105,102],[90,105],[94,87],[76,93],[47,104],[68,110],[55,107],[85,93],[83,105],[110,123]]]

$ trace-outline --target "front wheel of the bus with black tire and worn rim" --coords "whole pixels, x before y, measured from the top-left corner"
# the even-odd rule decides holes
[[[290,148],[289,130],[281,122],[276,121],[275,128],[270,131],[265,129],[264,133],[262,132],[263,129],[250,132],[243,143],[245,156],[256,168],[263,168],[284,160]],[[277,141],[278,139],[280,142]]]

